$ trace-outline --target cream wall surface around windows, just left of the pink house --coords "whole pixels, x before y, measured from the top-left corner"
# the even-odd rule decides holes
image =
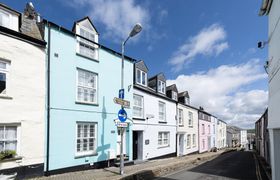
[[[196,109],[184,106],[180,103],[177,105],[177,109],[183,110],[183,125],[178,125],[177,134],[184,134],[184,151],[183,154],[190,154],[198,151],[198,111]],[[189,112],[193,114],[193,126],[189,126]],[[177,115],[178,118],[178,115]],[[187,135],[191,135],[191,147],[187,147]],[[193,134],[195,134],[195,145],[193,145]],[[179,150],[179,136],[177,136],[177,155]]]

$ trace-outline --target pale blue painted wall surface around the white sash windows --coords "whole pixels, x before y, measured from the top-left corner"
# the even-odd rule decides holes
[[[55,27],[51,30],[50,44],[49,170],[105,161],[109,151],[117,152],[117,127],[114,119],[118,118],[120,105],[115,104],[113,99],[118,97],[121,87],[121,59],[100,48],[99,61],[79,56],[76,54],[75,37]],[[124,66],[125,99],[132,102],[132,88],[128,90],[128,86],[133,84],[133,63],[125,61]],[[97,105],[75,102],[77,68],[98,74]],[[128,118],[131,118],[131,109],[126,111]],[[76,156],[76,123],[79,121],[97,123],[96,155]],[[130,130],[126,132],[126,153],[131,158]]]

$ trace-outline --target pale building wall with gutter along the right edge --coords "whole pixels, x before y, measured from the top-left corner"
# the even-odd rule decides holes
[[[268,47],[265,64],[268,73],[268,131],[270,137],[270,157],[272,180],[280,179],[280,0],[263,0],[259,15],[268,15],[268,39],[259,47]]]

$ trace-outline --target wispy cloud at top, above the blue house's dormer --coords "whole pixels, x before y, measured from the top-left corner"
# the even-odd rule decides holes
[[[87,6],[93,23],[105,26],[105,36],[121,41],[128,36],[136,23],[149,28],[149,11],[134,0],[73,0],[75,6]],[[71,5],[73,6],[73,5]],[[102,32],[104,35],[104,32]]]

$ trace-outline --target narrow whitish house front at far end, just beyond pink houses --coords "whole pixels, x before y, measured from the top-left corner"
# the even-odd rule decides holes
[[[217,125],[217,148],[225,148],[227,141],[227,124],[221,120],[218,120]]]

